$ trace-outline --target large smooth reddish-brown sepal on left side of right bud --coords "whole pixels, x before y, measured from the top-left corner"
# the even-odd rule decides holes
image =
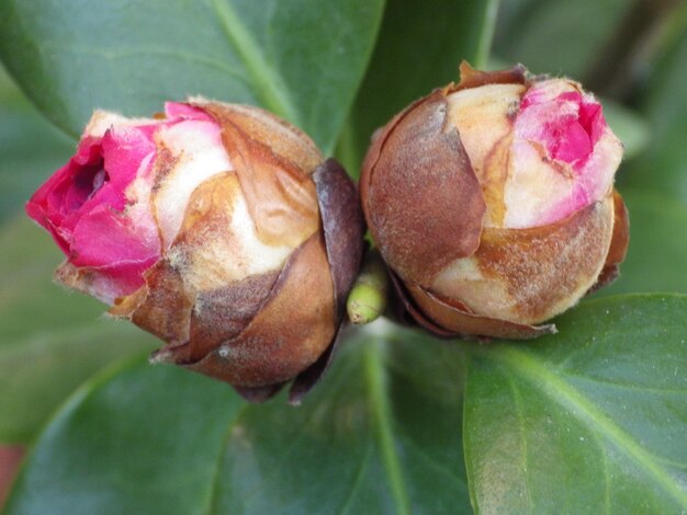
[[[441,91],[378,136],[363,163],[361,198],[384,260],[404,281],[427,286],[476,250],[486,204],[458,130],[447,124]]]

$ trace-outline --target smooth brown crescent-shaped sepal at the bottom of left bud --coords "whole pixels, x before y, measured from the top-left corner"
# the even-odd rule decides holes
[[[294,306],[297,309],[294,309]],[[247,328],[195,363],[167,360],[239,387],[286,381],[312,365],[335,333],[334,287],[323,237],[296,249]]]

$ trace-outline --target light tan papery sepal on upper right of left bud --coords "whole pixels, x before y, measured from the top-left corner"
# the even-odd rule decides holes
[[[260,239],[297,247],[319,227],[311,174],[323,157],[307,136],[257,107],[195,103],[222,127],[222,139]]]

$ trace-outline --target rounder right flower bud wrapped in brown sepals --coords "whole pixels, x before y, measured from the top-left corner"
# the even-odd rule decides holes
[[[461,81],[396,115],[361,176],[370,231],[405,309],[444,336],[533,337],[617,275],[622,144],[568,79],[522,67]]]

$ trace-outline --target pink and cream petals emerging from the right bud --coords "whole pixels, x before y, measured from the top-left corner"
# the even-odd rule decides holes
[[[513,151],[507,192],[513,196],[507,202],[530,197],[517,214],[511,210],[507,226],[514,228],[552,224],[601,199],[612,188],[622,158],[622,145],[606,124],[601,105],[566,79],[538,82],[522,96]],[[532,171],[538,184],[527,182]]]

